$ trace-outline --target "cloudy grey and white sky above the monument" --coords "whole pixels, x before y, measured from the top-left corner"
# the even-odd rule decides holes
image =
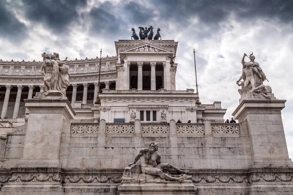
[[[177,89],[195,88],[196,50],[201,102],[222,101],[225,118],[240,98],[243,53],[253,52],[265,84],[287,99],[282,118],[293,158],[292,0],[0,0],[0,58],[41,60],[44,51],[95,58],[101,48],[113,56],[114,41],[148,25],[179,41]]]

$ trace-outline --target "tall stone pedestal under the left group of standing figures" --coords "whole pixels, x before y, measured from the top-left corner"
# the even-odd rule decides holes
[[[17,167],[61,167],[61,134],[70,131],[75,112],[60,92],[37,93],[25,99],[29,109],[23,154]]]

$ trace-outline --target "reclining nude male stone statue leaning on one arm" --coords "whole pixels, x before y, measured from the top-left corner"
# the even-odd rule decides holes
[[[149,148],[141,149],[139,151],[139,154],[135,156],[134,160],[128,166],[135,164],[140,159],[142,168],[141,171],[144,174],[160,176],[162,179],[179,182],[182,182],[184,179],[189,178],[187,176],[173,177],[164,173],[163,170],[175,171],[180,174],[187,174],[189,171],[178,169],[177,167],[170,165],[169,163],[161,163],[161,156],[157,153],[157,151],[158,145],[155,141],[152,141],[149,144]]]

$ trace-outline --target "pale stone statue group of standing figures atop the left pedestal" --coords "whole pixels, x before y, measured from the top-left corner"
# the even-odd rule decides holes
[[[61,61],[58,53],[42,53],[43,63],[41,67],[44,75],[44,91],[59,91],[66,97],[66,89],[69,86],[69,66],[65,60]]]

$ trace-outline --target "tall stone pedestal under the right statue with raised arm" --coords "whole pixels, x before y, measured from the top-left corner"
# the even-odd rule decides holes
[[[243,94],[232,114],[251,139],[251,168],[293,166],[288,156],[281,110],[286,100]]]

